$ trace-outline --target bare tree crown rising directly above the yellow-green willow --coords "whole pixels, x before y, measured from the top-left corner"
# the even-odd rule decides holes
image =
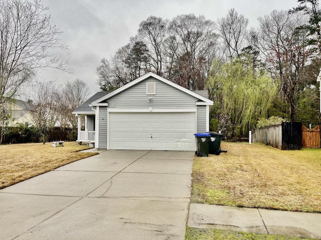
[[[218,19],[221,37],[228,57],[240,56],[241,49],[244,47],[243,43],[246,36],[246,28],[248,19],[231,8],[226,17]]]

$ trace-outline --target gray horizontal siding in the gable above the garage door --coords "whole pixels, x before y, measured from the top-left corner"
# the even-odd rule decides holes
[[[146,94],[146,82],[156,82],[156,94]],[[152,101],[147,101],[152,97]],[[170,86],[153,77],[149,77],[123,92],[107,99],[111,107],[124,108],[191,108],[196,107],[195,102],[198,98],[189,95],[173,86]]]

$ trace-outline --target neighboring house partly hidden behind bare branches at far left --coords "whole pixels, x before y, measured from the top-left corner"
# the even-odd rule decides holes
[[[19,123],[34,123],[32,114],[33,106],[29,102],[15,98],[9,98],[5,104],[6,108],[10,111],[12,126],[15,126]]]

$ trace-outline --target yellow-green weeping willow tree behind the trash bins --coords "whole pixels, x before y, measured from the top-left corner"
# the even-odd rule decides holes
[[[239,60],[224,64],[214,61],[208,88],[217,104],[214,117],[228,138],[234,138],[237,129],[241,135],[253,129],[257,119],[266,115],[276,93],[272,78],[253,72]]]

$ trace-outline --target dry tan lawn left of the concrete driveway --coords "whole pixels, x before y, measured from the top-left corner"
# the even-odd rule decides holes
[[[97,154],[79,152],[88,148],[77,142],[64,142],[64,147],[49,142],[0,145],[0,189]]]

